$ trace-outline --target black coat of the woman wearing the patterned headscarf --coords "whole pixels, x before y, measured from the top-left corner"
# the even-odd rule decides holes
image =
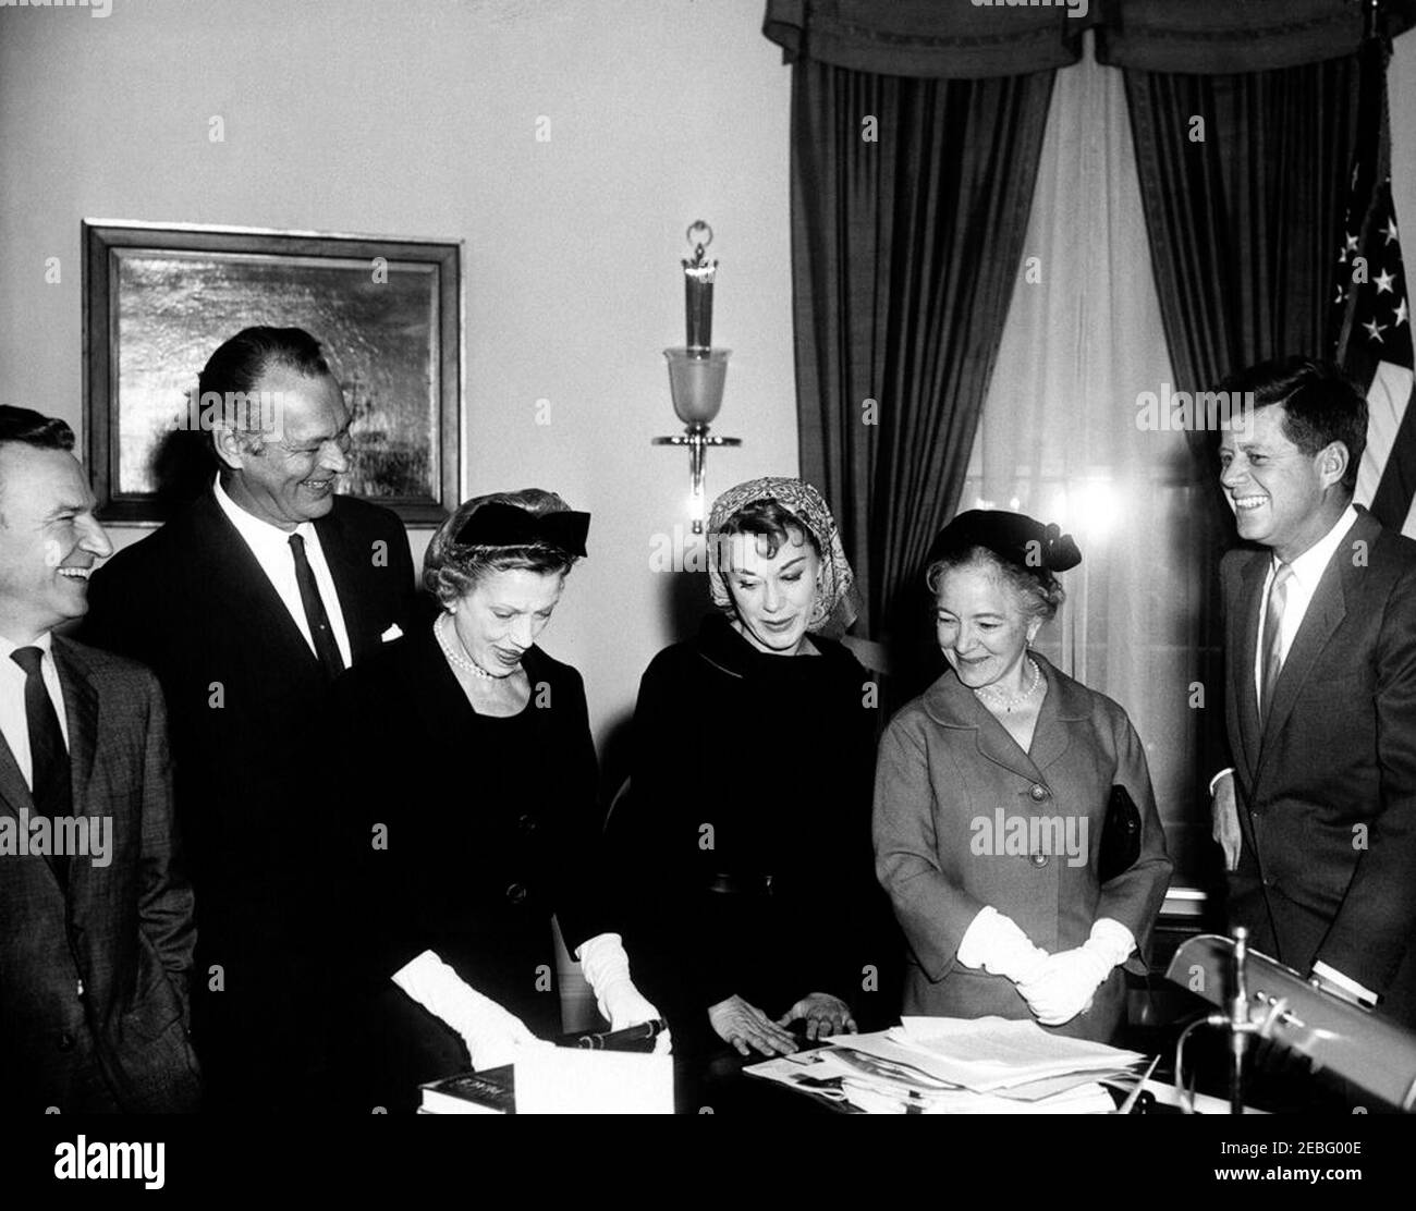
[[[636,982],[678,1050],[716,1045],[707,1010],[733,994],[770,1017],[807,993],[898,1008],[862,979],[899,946],[872,870],[874,700],[844,646],[811,640],[766,654],[715,613],[640,681],[609,837]],[[763,875],[770,895],[743,892]]]

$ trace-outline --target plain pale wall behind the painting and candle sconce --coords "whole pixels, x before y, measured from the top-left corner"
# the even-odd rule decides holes
[[[745,442],[709,453],[709,500],[797,473],[790,75],[762,11],[0,8],[0,401],[81,423],[82,218],[466,241],[463,494],[549,487],[593,514],[542,646],[585,674],[603,742],[654,652],[707,609],[705,578],[650,569],[653,535],[687,523],[687,453],[650,439],[681,431],[660,350],[684,341],[678,261],[697,218],[721,259],[714,343],[733,350],[715,431]],[[412,538],[421,559],[428,531]]]

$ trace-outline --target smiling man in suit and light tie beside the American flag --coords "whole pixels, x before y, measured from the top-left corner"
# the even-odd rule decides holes
[[[1253,392],[1219,479],[1262,548],[1221,564],[1231,919],[1416,1025],[1416,542],[1352,504],[1366,401],[1341,371],[1293,358],[1225,387]]]

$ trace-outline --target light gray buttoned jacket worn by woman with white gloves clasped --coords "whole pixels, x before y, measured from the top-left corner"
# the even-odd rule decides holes
[[[1034,659],[1046,673],[1048,693],[1028,752],[953,670],[903,707],[881,739],[875,871],[910,948],[906,1014],[1031,1017],[1011,980],[963,967],[956,959],[984,905],[1011,916],[1049,953],[1080,946],[1092,923],[1109,916],[1136,938],[1127,969],[1147,970],[1144,955],[1171,861],[1146,751],[1116,703],[1041,656]],[[1141,851],[1130,870],[1103,884],[1097,854],[1114,785],[1127,789],[1140,812]],[[1065,851],[1065,834],[1049,837],[1046,847],[1038,837],[1044,863],[1007,847],[1000,853],[998,813],[1004,820],[1070,819],[1078,853]],[[1113,972],[1092,1008],[1058,1033],[1109,1038],[1121,1020],[1124,991],[1121,973]]]

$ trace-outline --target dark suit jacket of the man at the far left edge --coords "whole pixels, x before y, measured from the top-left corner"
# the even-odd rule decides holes
[[[118,1105],[195,1109],[187,1041],[193,894],[178,863],[167,722],[157,680],[129,660],[55,637],[74,810],[112,819],[108,865],[0,857],[0,1106],[61,1110],[85,1030]],[[0,737],[0,814],[34,816]],[[82,982],[82,996],[79,994]]]

